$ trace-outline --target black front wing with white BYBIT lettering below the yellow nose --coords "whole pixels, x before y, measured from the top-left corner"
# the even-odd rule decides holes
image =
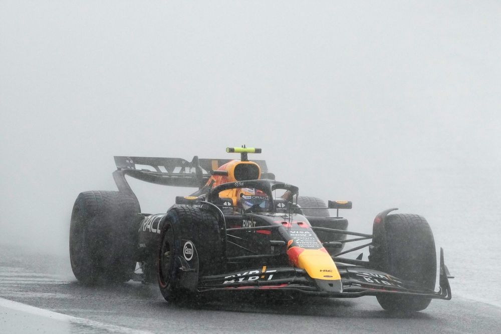
[[[336,264],[341,274],[341,281],[313,279],[309,277],[306,270],[292,266],[263,266],[240,272],[200,277],[198,291],[289,290],[329,297],[405,294],[439,299],[451,298],[448,271],[444,264],[442,249],[440,249],[438,291],[420,287],[413,281],[403,280],[382,271],[362,266]],[[340,284],[335,282],[340,282]]]

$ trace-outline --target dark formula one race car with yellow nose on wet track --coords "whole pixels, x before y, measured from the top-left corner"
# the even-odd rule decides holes
[[[372,234],[348,231],[339,209],[351,208],[350,201],[299,196],[297,186],[275,180],[265,161],[247,159],[259,148],[226,151],[240,153],[240,160],[115,156],[119,191],[82,192],[73,207],[70,258],[77,279],[157,280],[169,301],[274,290],[374,295],[384,309],[412,312],[432,298],[451,298],[443,250],[437,272],[423,217],[389,214],[393,208],[376,216]],[[141,213],[126,175],[199,189],[176,197],[167,213]],[[344,250],[350,242],[356,245]],[[368,260],[343,256],[364,247]]]

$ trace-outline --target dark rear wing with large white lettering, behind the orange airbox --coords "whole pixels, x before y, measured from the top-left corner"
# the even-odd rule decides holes
[[[191,161],[177,157],[115,156],[117,170],[113,178],[118,190],[131,192],[125,175],[161,185],[202,188],[212,172],[232,159],[199,159]],[[262,173],[268,172],[265,160],[253,160],[261,167]]]

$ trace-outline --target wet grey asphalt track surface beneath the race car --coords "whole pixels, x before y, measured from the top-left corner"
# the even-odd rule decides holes
[[[369,296],[265,294],[189,306],[165,302],[156,285],[84,286],[65,257],[0,251],[0,332],[501,332],[501,308],[454,295],[453,281],[452,300],[433,300],[412,316],[383,311]]]

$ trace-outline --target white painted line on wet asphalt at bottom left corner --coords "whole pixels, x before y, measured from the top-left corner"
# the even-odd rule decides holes
[[[65,321],[85,326],[91,326],[96,329],[104,329],[111,332],[119,332],[119,333],[138,333],[138,334],[152,334],[151,331],[138,330],[128,327],[117,326],[114,324],[107,324],[99,321],[79,318],[76,316],[71,316],[63,313],[57,313],[50,311],[48,309],[43,309],[27,304],[23,304],[21,302],[12,301],[9,299],[0,298],[0,306],[7,307],[10,309],[14,309],[20,312],[30,313],[38,316],[47,317],[54,320]]]

